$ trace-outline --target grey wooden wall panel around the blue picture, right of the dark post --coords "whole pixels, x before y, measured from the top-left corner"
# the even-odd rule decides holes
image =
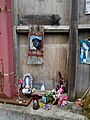
[[[87,39],[90,30],[79,31],[76,64],[76,96],[82,96],[90,86],[90,65],[80,64],[80,40]]]

